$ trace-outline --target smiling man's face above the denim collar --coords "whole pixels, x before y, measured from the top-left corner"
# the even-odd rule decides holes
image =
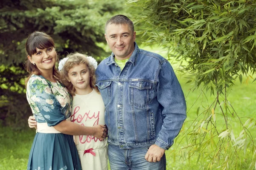
[[[105,38],[116,59],[127,59],[134,51],[136,32],[132,32],[127,24],[110,24]]]

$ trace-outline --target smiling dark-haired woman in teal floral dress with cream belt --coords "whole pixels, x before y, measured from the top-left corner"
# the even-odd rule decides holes
[[[72,96],[59,82],[57,54],[52,38],[35,31],[26,41],[26,96],[37,121],[27,170],[81,170],[71,135],[93,135],[103,140],[104,125],[86,127],[66,119],[71,115]]]

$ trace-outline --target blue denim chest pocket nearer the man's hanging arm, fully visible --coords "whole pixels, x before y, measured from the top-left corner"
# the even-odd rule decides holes
[[[151,82],[146,81],[131,81],[129,82],[130,104],[139,109],[146,108],[150,102],[150,91],[152,88]]]

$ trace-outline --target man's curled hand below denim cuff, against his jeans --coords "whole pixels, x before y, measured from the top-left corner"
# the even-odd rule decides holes
[[[160,161],[165,150],[156,144],[153,144],[149,147],[148,152],[145,155],[145,159],[149,162]]]

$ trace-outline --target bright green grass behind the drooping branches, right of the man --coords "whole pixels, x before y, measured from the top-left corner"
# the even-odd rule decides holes
[[[238,113],[239,117],[242,117],[241,120],[242,122],[246,122],[248,117],[253,118],[255,113],[256,113],[256,88],[255,88],[255,83],[251,83],[252,80],[248,84],[245,82],[240,84],[239,80],[235,82],[235,85],[232,88],[231,93],[227,97],[231,105],[233,105],[235,111]],[[183,92],[186,96],[186,103],[187,103],[187,119],[184,125],[184,129],[187,129],[193,120],[197,118],[197,108],[201,106],[201,110],[203,110],[202,105],[205,107],[207,106],[207,100],[209,103],[213,102],[215,96],[210,96],[209,93],[207,93],[207,100],[206,97],[202,99],[202,96],[199,97],[197,100],[198,96],[200,95],[201,91],[200,89],[197,89],[193,92],[189,93],[189,89],[192,88],[192,84],[186,84],[186,79],[180,79],[181,86],[183,88]],[[197,100],[197,102],[195,102]],[[200,112],[201,112],[200,110]],[[223,116],[220,113],[220,110],[215,111],[216,117],[218,118],[219,122],[218,125],[220,125],[218,128],[219,129],[225,129],[223,126],[224,124],[224,119]],[[217,119],[216,118],[216,119]],[[231,118],[230,118],[231,119]],[[233,122],[230,122],[230,126],[232,127],[234,131],[234,135],[236,137],[239,136],[239,133],[242,130],[242,127],[238,123],[238,119],[232,119]],[[253,140],[256,141],[256,132],[255,130],[250,130],[253,136]],[[186,146],[186,140],[183,138],[181,139],[182,133],[179,134],[177,139],[175,139],[175,144],[168,150],[166,151],[166,157],[167,157],[167,169],[168,170],[184,170],[184,169],[191,169],[191,170],[203,170],[205,167],[207,167],[207,164],[209,162],[209,159],[204,158],[204,156],[201,156],[201,158],[198,160],[198,156],[193,156],[190,161],[186,160],[184,161],[182,157],[177,155],[176,153],[173,152],[175,148],[177,148],[178,144],[179,148]],[[250,144],[249,144],[250,145]],[[248,146],[249,146],[248,145]],[[248,169],[252,160],[252,155],[254,150],[251,150],[252,148],[247,148],[246,149],[246,154],[243,152],[240,154],[240,161],[241,162],[241,167],[237,167],[236,170],[243,170],[243,169]],[[187,157],[187,156],[186,156]],[[174,161],[175,160],[175,161]],[[253,166],[251,168],[254,167]],[[215,167],[216,168],[216,167]],[[221,168],[220,168],[221,169]],[[231,168],[232,169],[232,168]]]

